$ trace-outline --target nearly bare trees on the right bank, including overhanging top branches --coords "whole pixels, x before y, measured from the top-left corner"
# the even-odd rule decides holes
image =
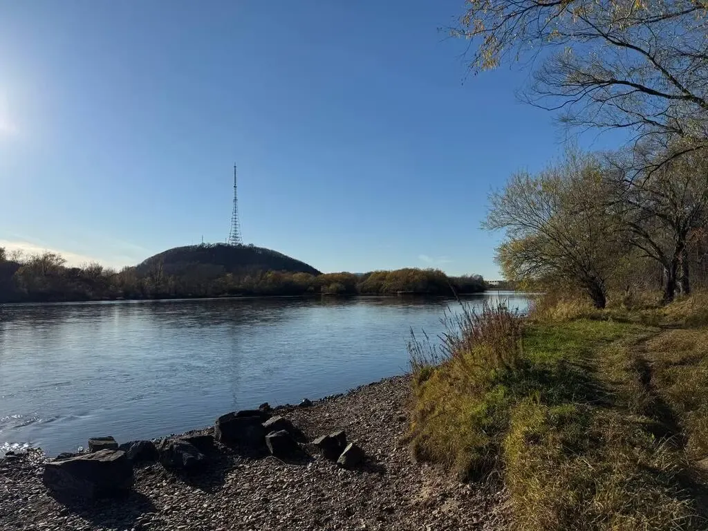
[[[473,73],[524,61],[523,101],[564,127],[624,133],[616,149],[569,148],[491,194],[510,280],[608,297],[706,285],[708,4],[704,0],[469,0],[452,35]]]

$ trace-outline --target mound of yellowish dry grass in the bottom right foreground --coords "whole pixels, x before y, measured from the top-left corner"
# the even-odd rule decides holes
[[[504,459],[520,530],[700,528],[678,456],[616,412],[523,401]]]

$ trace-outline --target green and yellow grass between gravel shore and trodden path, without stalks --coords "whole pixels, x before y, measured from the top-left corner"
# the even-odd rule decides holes
[[[513,366],[484,362],[479,341],[458,342],[467,348],[413,379],[416,457],[467,479],[495,472],[519,529],[706,528],[683,451],[658,435],[636,353],[657,332],[615,319],[533,321]]]

